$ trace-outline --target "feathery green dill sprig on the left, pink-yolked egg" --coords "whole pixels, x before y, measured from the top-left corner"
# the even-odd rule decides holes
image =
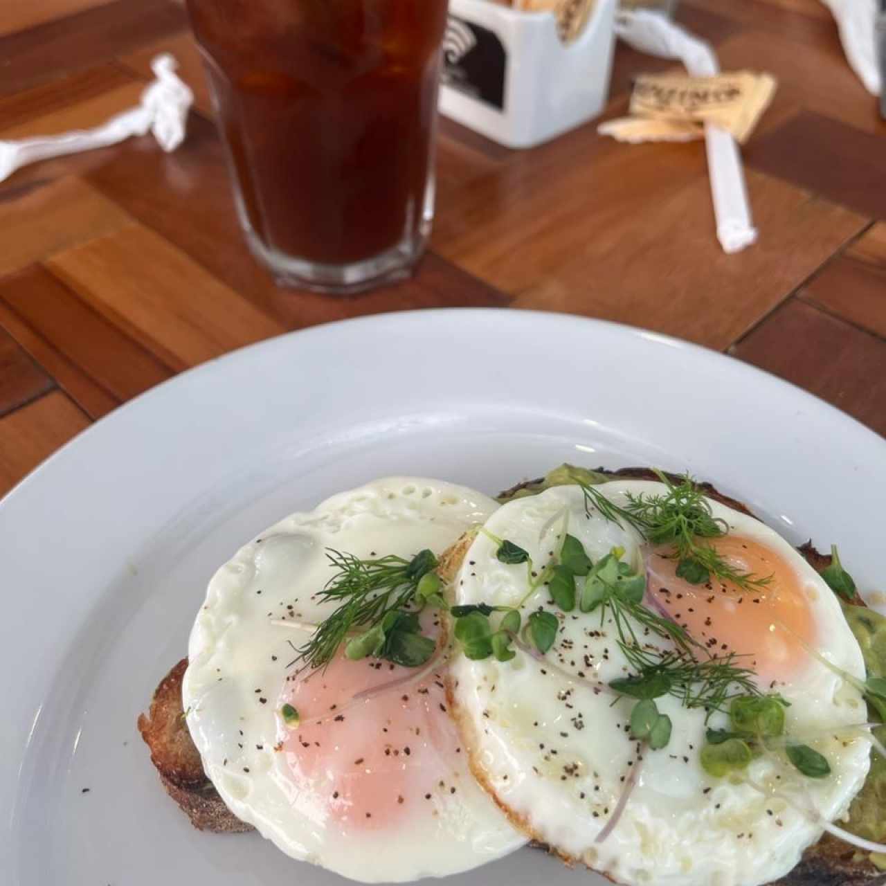
[[[319,602],[340,604],[299,647],[296,661],[306,668],[329,664],[355,628],[376,626],[387,613],[408,607],[415,599],[418,582],[437,565],[430,550],[411,560],[393,554],[361,560],[334,548],[327,548],[326,556],[337,572],[315,597]]]

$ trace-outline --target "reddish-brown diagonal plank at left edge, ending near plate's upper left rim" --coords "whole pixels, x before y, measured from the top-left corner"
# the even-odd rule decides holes
[[[13,337],[21,335],[20,344],[33,348],[35,359],[41,360],[38,354],[42,354],[43,360],[51,361],[47,369],[90,416],[101,415],[173,375],[44,268],[27,268],[0,281],[0,303],[19,320],[10,329]]]

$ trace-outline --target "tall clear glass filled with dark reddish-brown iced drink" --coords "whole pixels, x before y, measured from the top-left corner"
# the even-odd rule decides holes
[[[253,253],[282,284],[408,276],[431,230],[447,0],[188,0]]]

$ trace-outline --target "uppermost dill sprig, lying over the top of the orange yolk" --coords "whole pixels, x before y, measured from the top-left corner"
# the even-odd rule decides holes
[[[711,504],[688,475],[679,484],[656,471],[667,486],[664,494],[627,494],[622,507],[610,501],[594,486],[579,483],[585,496],[585,510],[594,508],[611,523],[622,525],[624,520],[633,526],[651,544],[672,546],[672,558],[678,561],[677,574],[691,584],[703,584],[711,575],[720,581],[732,582],[743,591],[766,587],[771,576],[761,577],[751,572],[734,569],[716,548],[700,539],[716,539],[726,535],[727,522],[711,513]]]

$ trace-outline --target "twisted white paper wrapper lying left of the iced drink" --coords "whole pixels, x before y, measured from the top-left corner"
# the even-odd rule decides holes
[[[117,144],[149,130],[164,151],[175,151],[184,139],[185,123],[194,94],[175,74],[175,58],[164,53],[154,58],[151,69],[157,78],[142,93],[135,108],[114,115],[101,126],[78,129],[62,136],[0,141],[0,182],[28,163],[61,157]]]

